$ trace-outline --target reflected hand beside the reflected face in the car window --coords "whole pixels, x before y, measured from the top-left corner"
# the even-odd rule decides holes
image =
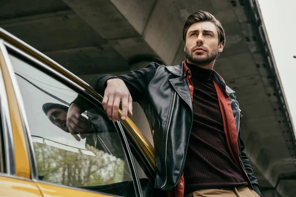
[[[67,128],[78,141],[80,141],[80,138],[76,134],[77,132],[79,132],[81,138],[85,138],[89,134],[89,122],[81,113],[81,109],[74,103],[70,105],[67,113]]]

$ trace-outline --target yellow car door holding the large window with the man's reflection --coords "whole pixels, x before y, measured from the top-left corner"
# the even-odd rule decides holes
[[[143,196],[124,131],[108,119],[97,93],[12,35],[3,43],[25,130],[29,176],[42,195]],[[79,140],[65,127],[76,98],[89,123],[77,132]]]

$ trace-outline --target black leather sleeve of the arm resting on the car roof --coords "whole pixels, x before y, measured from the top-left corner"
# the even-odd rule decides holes
[[[127,86],[133,101],[139,101],[147,90],[148,84],[151,78],[154,76],[156,68],[160,66],[157,63],[150,63],[147,67],[130,71],[127,74],[115,76],[111,74],[98,75],[90,80],[89,85],[93,87],[100,95],[104,96],[105,89],[107,87],[107,81],[113,78],[122,79]],[[78,105],[82,110],[86,110],[89,107],[86,105],[86,101],[81,96],[78,96],[72,103]]]

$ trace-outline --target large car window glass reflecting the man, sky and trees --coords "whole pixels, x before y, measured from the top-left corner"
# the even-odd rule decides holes
[[[10,55],[23,98],[39,180],[118,196],[133,196],[123,145],[102,109],[58,80]],[[74,138],[66,125],[68,107],[79,98],[87,129]]]

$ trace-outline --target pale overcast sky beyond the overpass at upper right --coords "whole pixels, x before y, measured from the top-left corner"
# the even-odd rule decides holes
[[[295,130],[296,0],[258,1]]]

